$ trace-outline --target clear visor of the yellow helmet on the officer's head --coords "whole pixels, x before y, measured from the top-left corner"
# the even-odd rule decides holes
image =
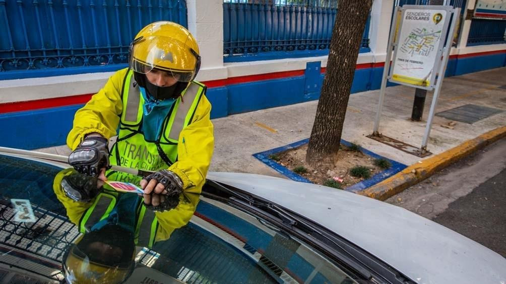
[[[195,75],[197,58],[185,43],[170,37],[151,36],[134,40],[129,64],[133,71],[141,74],[156,69],[178,81],[189,82]]]

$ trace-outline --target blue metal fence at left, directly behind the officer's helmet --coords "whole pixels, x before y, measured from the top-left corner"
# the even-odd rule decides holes
[[[135,34],[158,20],[187,26],[186,0],[0,0],[0,79],[124,64]]]

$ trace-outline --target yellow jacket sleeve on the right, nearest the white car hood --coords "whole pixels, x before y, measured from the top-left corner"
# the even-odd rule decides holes
[[[178,161],[168,168],[181,178],[185,192],[200,193],[205,183],[215,141],[210,112],[211,104],[202,94],[192,123],[179,135]]]

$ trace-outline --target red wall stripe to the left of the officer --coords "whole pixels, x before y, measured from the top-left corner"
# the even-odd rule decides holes
[[[69,97],[7,102],[0,104],[0,113],[82,104],[88,102],[91,97],[92,94],[85,94]]]

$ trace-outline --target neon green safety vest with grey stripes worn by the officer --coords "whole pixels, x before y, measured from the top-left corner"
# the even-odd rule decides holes
[[[175,163],[178,159],[179,134],[191,123],[204,92],[204,85],[191,82],[183,91],[183,97],[178,97],[168,111],[156,140],[147,141],[140,129],[144,98],[135,83],[134,73],[129,70],[121,90],[123,111],[119,122],[118,139],[111,149],[109,159],[111,164],[158,171]]]

